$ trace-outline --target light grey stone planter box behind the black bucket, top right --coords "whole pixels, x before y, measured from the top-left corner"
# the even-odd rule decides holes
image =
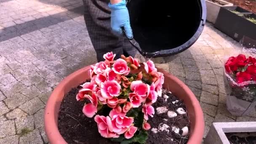
[[[209,0],[205,0],[206,9],[207,9],[206,20],[213,24],[215,24],[215,21],[217,19],[217,16],[219,14],[219,9],[221,8],[221,6],[233,6],[233,3],[229,3],[224,0],[216,0],[216,1],[221,3],[222,5],[213,3],[212,1],[209,1]]]

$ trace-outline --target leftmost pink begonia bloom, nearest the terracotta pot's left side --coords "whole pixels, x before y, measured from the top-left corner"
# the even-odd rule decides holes
[[[92,91],[96,91],[97,85],[93,83],[84,83],[81,85],[83,88],[79,90],[79,92],[76,95],[77,101],[83,101]]]

